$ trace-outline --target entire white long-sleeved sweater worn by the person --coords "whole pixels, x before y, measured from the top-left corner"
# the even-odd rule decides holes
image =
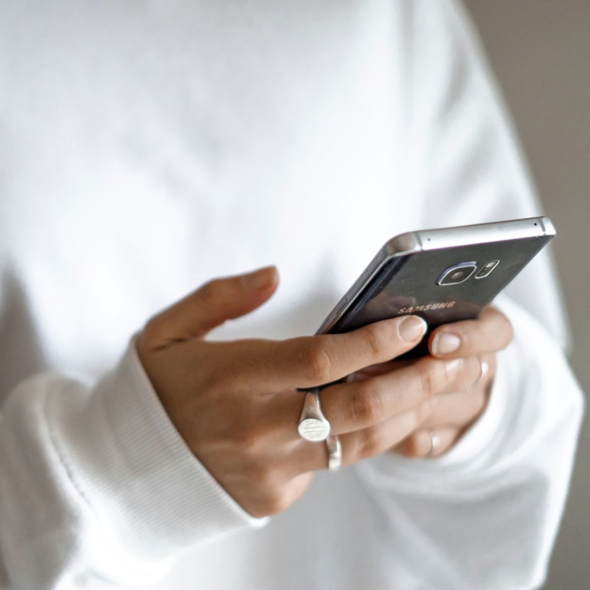
[[[460,7],[6,0],[0,156],[2,589],[541,583],[582,407],[547,254],[499,301],[514,342],[454,450],[319,473],[268,521],[126,344],[267,263],[276,296],[217,337],[313,333],[392,235],[540,213]]]

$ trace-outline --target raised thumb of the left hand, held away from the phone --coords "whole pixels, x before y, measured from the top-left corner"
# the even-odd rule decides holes
[[[152,317],[142,332],[150,349],[205,336],[225,320],[244,316],[267,301],[278,285],[277,268],[216,278]]]

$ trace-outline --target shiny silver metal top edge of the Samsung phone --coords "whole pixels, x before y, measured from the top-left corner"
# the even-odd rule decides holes
[[[415,233],[418,234],[423,250],[438,250],[449,246],[543,236],[553,237],[555,227],[548,217],[530,217],[477,225],[461,225],[438,230],[421,230]]]

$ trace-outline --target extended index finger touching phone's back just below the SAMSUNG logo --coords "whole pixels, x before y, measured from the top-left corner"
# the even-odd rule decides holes
[[[250,367],[253,361],[259,366],[264,362],[257,374],[258,386],[274,391],[312,388],[407,352],[426,330],[427,323],[420,317],[402,316],[343,334],[260,341],[246,362]]]

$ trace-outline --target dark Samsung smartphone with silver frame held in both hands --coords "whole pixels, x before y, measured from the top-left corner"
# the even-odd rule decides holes
[[[415,314],[428,322],[428,333],[404,356],[425,355],[432,330],[475,319],[554,235],[547,217],[398,235],[383,245],[316,334]]]

